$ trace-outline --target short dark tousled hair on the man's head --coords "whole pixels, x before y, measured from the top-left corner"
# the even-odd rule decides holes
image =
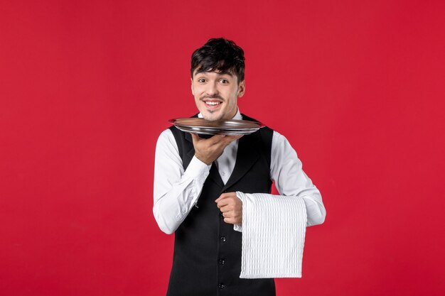
[[[232,40],[211,38],[202,47],[193,52],[191,60],[191,76],[198,70],[201,72],[220,72],[232,74],[238,83],[244,80],[244,50]]]

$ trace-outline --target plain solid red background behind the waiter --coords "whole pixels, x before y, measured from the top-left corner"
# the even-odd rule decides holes
[[[444,295],[444,1],[1,1],[0,294],[165,295],[154,147],[208,38],[328,212],[284,295]]]

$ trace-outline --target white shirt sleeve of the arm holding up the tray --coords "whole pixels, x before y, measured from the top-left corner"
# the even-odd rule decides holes
[[[198,202],[210,165],[193,156],[184,171],[173,133],[163,131],[154,159],[153,214],[159,228],[172,234]]]

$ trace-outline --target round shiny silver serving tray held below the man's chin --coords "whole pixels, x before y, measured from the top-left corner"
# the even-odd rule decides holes
[[[257,121],[236,119],[207,121],[200,118],[180,118],[171,119],[168,122],[186,133],[201,133],[204,135],[247,135],[264,126]]]

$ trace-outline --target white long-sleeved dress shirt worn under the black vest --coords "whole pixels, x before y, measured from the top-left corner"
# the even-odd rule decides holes
[[[198,116],[202,117],[201,114]],[[239,110],[233,119],[242,119]],[[235,168],[237,148],[238,140],[230,143],[218,160],[215,160],[224,183],[229,180]],[[169,129],[161,133],[156,143],[153,212],[163,232],[172,234],[186,219],[198,202],[210,168],[211,165],[206,165],[193,156],[187,170],[184,170],[173,133]],[[321,194],[302,170],[294,148],[277,131],[272,136],[270,177],[281,195],[304,200],[307,226],[323,223],[326,210]],[[234,225],[234,229],[242,231],[240,225]]]

